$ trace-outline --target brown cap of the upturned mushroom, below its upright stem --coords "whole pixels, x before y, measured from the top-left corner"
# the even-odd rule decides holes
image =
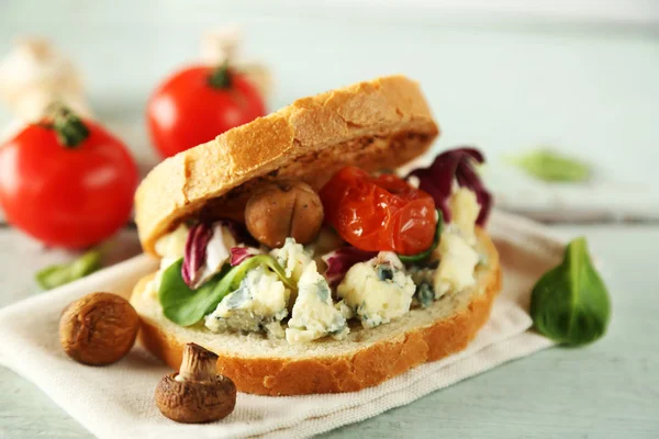
[[[177,375],[165,375],[156,387],[156,404],[169,419],[212,423],[228,416],[236,406],[236,386],[231,379],[215,375],[210,381],[177,381]]]

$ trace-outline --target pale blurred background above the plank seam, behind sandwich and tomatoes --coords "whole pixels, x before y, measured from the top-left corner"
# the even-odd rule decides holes
[[[659,219],[657,1],[3,0],[0,16],[0,56],[21,37],[47,38],[142,173],[159,160],[148,97],[200,59],[204,33],[237,25],[241,53],[271,74],[269,110],[404,74],[439,122],[435,150],[484,150],[499,207],[547,221]],[[0,126],[11,121],[0,110]],[[520,166],[540,150],[588,177],[545,181]]]

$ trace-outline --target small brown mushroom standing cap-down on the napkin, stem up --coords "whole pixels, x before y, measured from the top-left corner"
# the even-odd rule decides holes
[[[215,371],[217,356],[196,344],[183,349],[178,373],[165,375],[156,387],[156,404],[177,423],[212,423],[228,416],[236,405],[236,386]]]

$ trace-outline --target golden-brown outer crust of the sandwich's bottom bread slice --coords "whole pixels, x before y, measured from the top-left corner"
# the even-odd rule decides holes
[[[245,358],[216,352],[217,372],[231,378],[241,392],[259,395],[303,395],[355,392],[382,383],[422,363],[463,350],[490,316],[501,291],[501,267],[493,243],[482,230],[479,239],[490,263],[467,306],[432,325],[415,327],[343,356],[321,358]],[[145,282],[134,291],[141,294]],[[138,309],[139,312],[139,309]],[[141,342],[178,370],[185,342],[142,316]],[[369,329],[372,330],[372,329]]]

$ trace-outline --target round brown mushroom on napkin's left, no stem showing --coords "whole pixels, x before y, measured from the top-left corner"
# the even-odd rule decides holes
[[[92,293],[64,309],[59,342],[74,360],[104,365],[129,353],[138,329],[139,316],[129,301],[116,294]]]

